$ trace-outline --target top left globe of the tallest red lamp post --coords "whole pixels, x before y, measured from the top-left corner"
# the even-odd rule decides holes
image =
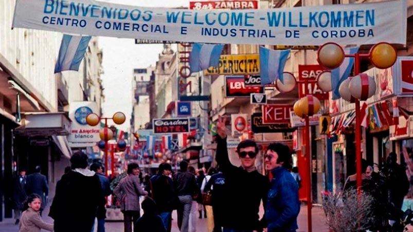
[[[322,45],[317,52],[318,63],[328,69],[335,69],[344,61],[344,50],[336,43]]]

